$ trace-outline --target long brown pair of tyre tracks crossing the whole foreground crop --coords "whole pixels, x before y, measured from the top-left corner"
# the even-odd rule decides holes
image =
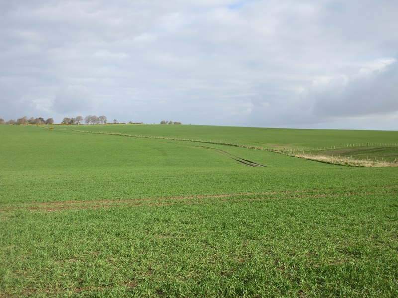
[[[221,195],[198,195],[164,198],[135,198],[124,200],[92,200],[92,201],[59,201],[59,202],[30,202],[23,205],[11,205],[1,208],[0,212],[29,210],[29,211],[57,211],[67,209],[98,209],[110,207],[129,206],[160,206],[173,204],[199,204],[199,203],[220,203],[238,201],[256,201],[269,199],[297,199],[297,198],[325,198],[351,195],[376,195],[398,193],[398,186],[373,187],[371,190],[362,188],[345,189],[343,192],[336,192],[336,189],[320,190],[297,190],[279,192],[258,192],[258,193],[233,193]],[[375,191],[376,190],[376,191]],[[220,200],[217,200],[220,199]]]

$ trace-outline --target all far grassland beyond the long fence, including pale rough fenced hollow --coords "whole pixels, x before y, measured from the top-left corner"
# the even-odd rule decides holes
[[[63,130],[67,129],[139,138],[203,141],[210,144],[275,151],[339,165],[398,165],[398,143],[396,143],[398,135],[395,131],[293,130],[179,125],[172,127],[165,125],[97,125],[63,128]],[[191,135],[188,135],[188,132]],[[235,139],[232,137],[234,133]],[[381,142],[381,137],[384,138],[384,142]],[[290,143],[286,143],[287,141]],[[342,144],[343,142],[344,144]],[[345,144],[345,142],[349,143]],[[319,157],[319,155],[324,157]],[[334,156],[338,158],[330,158]],[[373,162],[369,162],[369,160]]]

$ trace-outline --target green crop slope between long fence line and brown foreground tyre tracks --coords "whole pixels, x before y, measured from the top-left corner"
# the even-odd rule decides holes
[[[126,199],[372,186],[395,169],[350,169],[276,153],[212,145],[260,164],[250,168],[199,144],[7,127],[0,174],[8,202]],[[12,144],[12,146],[11,146]]]

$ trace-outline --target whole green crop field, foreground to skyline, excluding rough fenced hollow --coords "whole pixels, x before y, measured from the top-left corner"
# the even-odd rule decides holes
[[[1,125],[0,137],[0,297],[398,296],[398,167],[213,144],[393,158],[396,131]]]

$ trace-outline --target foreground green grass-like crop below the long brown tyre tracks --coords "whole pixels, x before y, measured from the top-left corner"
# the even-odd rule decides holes
[[[37,296],[396,296],[395,198],[20,211],[1,232],[3,286]]]

